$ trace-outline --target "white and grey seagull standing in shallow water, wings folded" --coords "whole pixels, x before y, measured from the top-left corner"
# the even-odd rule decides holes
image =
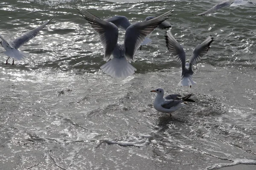
[[[162,113],[170,113],[170,116],[172,116],[172,112],[184,107],[186,102],[195,102],[194,100],[189,99],[192,94],[189,94],[185,97],[182,97],[180,94],[169,94],[167,96],[163,96],[163,88],[157,88],[150,92],[157,93],[153,103],[154,108]]]

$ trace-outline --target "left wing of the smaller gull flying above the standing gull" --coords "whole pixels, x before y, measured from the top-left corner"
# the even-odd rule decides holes
[[[166,45],[168,50],[172,53],[172,55],[174,55],[175,59],[181,63],[182,76],[185,70],[186,54],[180,43],[175,40],[175,37],[173,37],[171,30],[166,32]]]

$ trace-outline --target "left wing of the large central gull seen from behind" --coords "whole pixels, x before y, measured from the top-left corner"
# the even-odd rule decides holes
[[[100,42],[102,43],[105,51],[104,60],[108,61],[118,40],[118,28],[113,23],[102,20],[86,10],[76,9],[99,34]]]

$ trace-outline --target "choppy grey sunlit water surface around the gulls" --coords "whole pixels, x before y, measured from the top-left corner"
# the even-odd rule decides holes
[[[5,65],[7,57],[0,54],[1,169],[210,170],[256,164],[256,8],[192,15],[216,2],[2,0],[0,34],[9,39],[58,14],[20,48],[31,58]],[[155,30],[151,44],[137,52],[132,77],[102,73],[99,37],[74,4],[101,18],[124,15],[131,23],[173,8],[172,33],[188,57],[209,34],[215,38],[195,66],[198,84],[177,87],[180,65],[167,51],[166,30]],[[123,37],[120,31],[119,41]],[[157,87],[192,93],[197,102],[170,119],[152,106],[150,91]]]

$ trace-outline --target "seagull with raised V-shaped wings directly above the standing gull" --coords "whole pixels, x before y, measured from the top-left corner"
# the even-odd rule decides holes
[[[195,64],[196,61],[199,61],[201,57],[203,57],[210,48],[210,45],[213,41],[213,37],[209,36],[206,40],[204,40],[201,44],[196,46],[193,51],[192,56],[190,57],[190,61],[186,62],[186,54],[183,47],[175,40],[173,37],[171,30],[166,32],[166,45],[168,50],[174,55],[178,62],[181,62],[181,80],[178,83],[178,86],[191,86],[195,85],[196,82],[192,80],[192,65]]]

